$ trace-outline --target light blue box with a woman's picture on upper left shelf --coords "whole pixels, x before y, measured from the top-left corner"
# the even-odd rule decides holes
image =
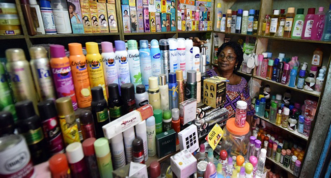
[[[73,9],[73,14],[70,18],[72,33],[73,34],[84,34],[84,25],[81,18],[79,0],[67,0],[68,9]]]

